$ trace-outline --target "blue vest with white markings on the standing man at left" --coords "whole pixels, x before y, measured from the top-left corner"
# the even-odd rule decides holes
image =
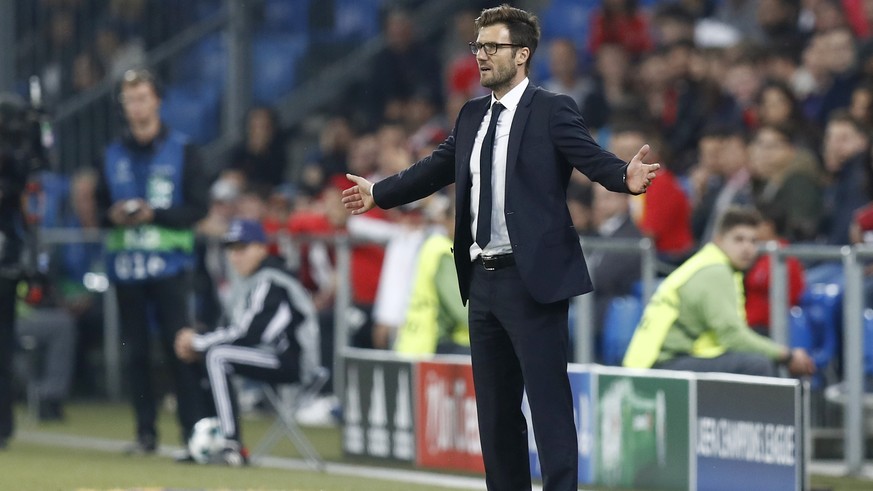
[[[112,203],[141,198],[155,210],[182,205],[187,137],[170,130],[150,152],[121,142],[106,150],[104,174]],[[204,184],[205,185],[205,184]],[[194,232],[149,224],[115,227],[106,243],[106,270],[113,281],[138,282],[175,276],[193,264]]]

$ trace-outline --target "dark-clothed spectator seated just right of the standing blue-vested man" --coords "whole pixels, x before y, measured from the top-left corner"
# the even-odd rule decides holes
[[[250,109],[245,141],[231,150],[227,169],[239,172],[248,186],[272,189],[285,180],[287,162],[276,112],[265,106]]]

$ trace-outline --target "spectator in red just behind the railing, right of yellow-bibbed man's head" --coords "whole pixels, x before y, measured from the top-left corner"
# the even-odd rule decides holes
[[[761,223],[758,225],[758,240],[760,242],[776,241],[787,245],[788,241],[779,237],[777,231],[785,230],[782,223],[785,215],[770,209],[761,212]],[[785,260],[788,271],[788,309],[800,303],[803,294],[803,266],[796,257]],[[770,255],[762,252],[752,264],[743,278],[746,289],[746,322],[749,327],[762,336],[770,335]]]

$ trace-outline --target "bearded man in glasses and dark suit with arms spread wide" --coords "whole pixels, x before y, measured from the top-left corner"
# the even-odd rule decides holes
[[[544,489],[575,490],[567,311],[570,297],[592,287],[567,211],[567,183],[576,168],[613,191],[641,193],[658,164],[642,162],[647,146],[629,164],[601,149],[573,99],[529,84],[540,34],[535,16],[503,5],[482,11],[476,28],[470,47],[492,95],[467,102],[452,134],[408,169],[375,185],[349,175],[356,185],[343,203],[360,214],[456,184],[454,258],[469,301],[488,489],[530,489],[526,388]]]

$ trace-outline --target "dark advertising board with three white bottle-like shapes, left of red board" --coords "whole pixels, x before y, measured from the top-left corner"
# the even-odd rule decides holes
[[[346,357],[343,451],[348,455],[415,460],[413,363]]]

